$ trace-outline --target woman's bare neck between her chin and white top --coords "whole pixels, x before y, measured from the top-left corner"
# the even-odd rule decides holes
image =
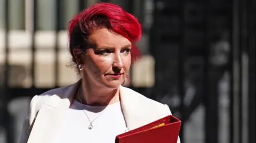
[[[106,89],[86,85],[83,81],[78,89],[82,103],[91,106],[105,106],[119,101],[119,88]]]

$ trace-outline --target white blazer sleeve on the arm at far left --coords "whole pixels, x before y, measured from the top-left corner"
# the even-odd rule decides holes
[[[20,138],[20,143],[27,143],[28,137],[33,127],[35,116],[36,116],[36,100],[37,96],[34,96],[30,101],[29,113],[26,119],[23,121],[22,134]]]

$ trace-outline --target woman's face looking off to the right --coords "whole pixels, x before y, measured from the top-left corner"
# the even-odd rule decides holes
[[[97,86],[116,89],[125,80],[131,66],[131,42],[107,28],[94,30],[91,47],[83,57],[83,79]]]

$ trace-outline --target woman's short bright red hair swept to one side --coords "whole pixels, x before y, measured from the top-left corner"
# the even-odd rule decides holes
[[[69,21],[69,49],[76,64],[74,49],[85,51],[89,47],[87,38],[94,29],[106,27],[129,39],[132,43],[132,63],[141,56],[136,41],[141,37],[141,25],[130,13],[124,11],[120,6],[111,3],[97,3],[83,10]]]

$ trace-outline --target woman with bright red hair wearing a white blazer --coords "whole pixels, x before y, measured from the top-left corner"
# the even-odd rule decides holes
[[[69,48],[82,79],[34,96],[21,143],[106,142],[170,115],[167,105],[121,86],[139,57],[141,26],[121,7],[98,3],[69,23]]]

